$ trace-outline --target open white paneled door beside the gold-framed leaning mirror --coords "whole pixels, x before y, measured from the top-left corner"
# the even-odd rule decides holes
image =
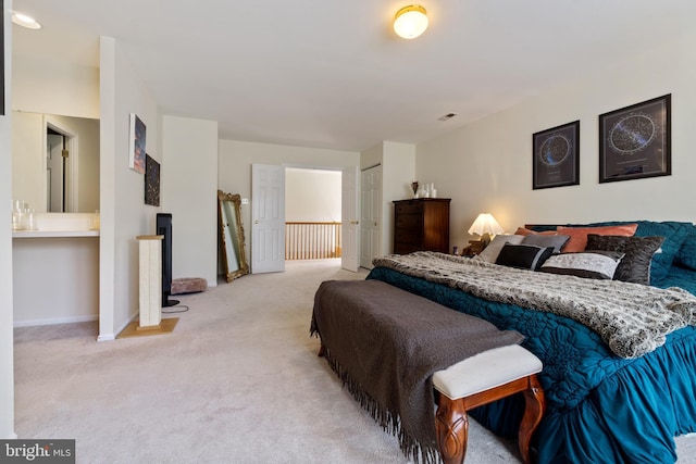
[[[285,271],[285,168],[251,165],[251,273]]]

